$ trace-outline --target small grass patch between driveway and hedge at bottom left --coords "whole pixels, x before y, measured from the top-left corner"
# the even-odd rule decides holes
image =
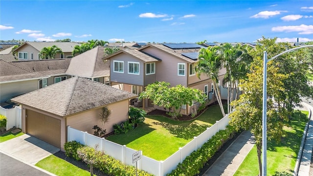
[[[53,154],[35,165],[57,176],[90,176],[88,171],[74,166]]]

